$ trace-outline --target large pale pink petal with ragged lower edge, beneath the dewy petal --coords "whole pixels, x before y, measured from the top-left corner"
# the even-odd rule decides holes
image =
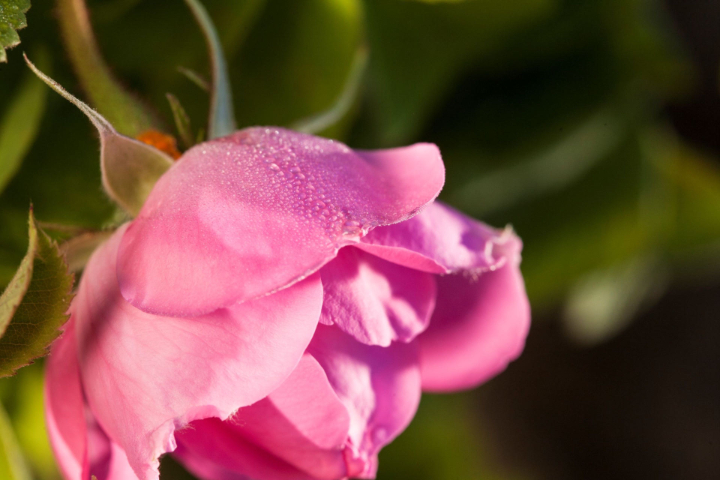
[[[91,258],[75,312],[88,403],[141,480],[158,478],[173,432],[227,418],[277,388],[310,342],[319,275],[274,295],[195,318],[144,313],[120,295],[115,258],[125,227]]]

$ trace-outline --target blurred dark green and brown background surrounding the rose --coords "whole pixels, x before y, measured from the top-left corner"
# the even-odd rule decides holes
[[[488,384],[426,395],[379,479],[720,478],[720,2],[206,0],[241,127],[331,106],[362,45],[352,147],[440,146],[441,198],[525,242],[533,326]],[[88,1],[116,76],[173,132],[204,126],[208,72],[180,0]],[[37,218],[101,228],[98,142],[22,51],[83,96],[54,2],[34,0],[0,64],[0,288]],[[0,381],[38,480],[57,479],[42,362]],[[6,424],[6,425],[5,425]],[[190,478],[171,460],[168,479]]]

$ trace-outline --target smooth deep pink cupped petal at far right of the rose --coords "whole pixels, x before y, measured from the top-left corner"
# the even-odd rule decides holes
[[[418,336],[423,389],[460,390],[485,382],[520,355],[529,327],[517,261],[479,278],[438,278],[435,313]]]

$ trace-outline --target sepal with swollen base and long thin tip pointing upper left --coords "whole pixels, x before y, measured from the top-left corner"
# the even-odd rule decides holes
[[[155,183],[173,164],[160,150],[120,135],[102,115],[68,93],[25,58],[50,88],[78,107],[100,134],[100,167],[107,194],[130,215],[137,215]]]

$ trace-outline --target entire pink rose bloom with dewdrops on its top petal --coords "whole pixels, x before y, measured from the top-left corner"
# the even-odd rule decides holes
[[[277,128],[189,150],[90,260],[54,345],[68,480],[372,478],[422,390],[523,348],[520,240],[434,202],[434,145]],[[410,459],[409,459],[410,460]]]

